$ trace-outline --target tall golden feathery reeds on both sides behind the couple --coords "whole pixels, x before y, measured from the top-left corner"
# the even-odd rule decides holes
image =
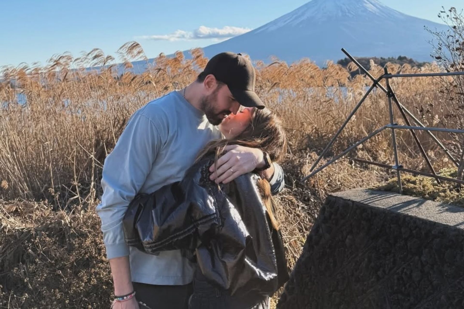
[[[0,196],[5,199],[49,200],[58,207],[94,200],[100,192],[99,179],[107,153],[114,147],[129,116],[148,101],[196,77],[207,59],[193,50],[192,59],[181,53],[174,58],[160,55],[147,72],[133,75],[128,59],[145,59],[140,45],[129,42],[121,49],[126,71],[116,75],[114,57],[94,49],[79,58],[69,54],[54,56],[45,67],[26,64],[3,68],[0,82]],[[148,60],[147,60],[148,63]],[[106,65],[97,72],[84,68]],[[350,66],[352,68],[352,65]],[[393,73],[438,72],[438,66],[422,69],[389,65]],[[257,63],[257,92],[285,120],[292,149],[319,150],[334,134],[361,99],[370,84],[364,76],[349,78],[347,69],[329,63],[319,69],[309,60],[288,65]],[[373,65],[371,73],[383,69]],[[393,81],[400,100],[425,124],[437,124],[450,117],[443,106],[445,96],[438,92],[435,78]],[[19,104],[21,100],[26,104]],[[402,120],[396,119],[402,123]],[[375,91],[358,111],[334,145],[334,151],[350,145],[386,124],[385,95]],[[442,134],[443,135],[443,134]],[[444,136],[442,136],[444,137]],[[417,149],[409,132],[399,132],[402,162],[412,160]],[[442,159],[430,139],[419,139],[433,157]],[[450,146],[456,148],[451,139]],[[365,146],[368,157],[391,161],[388,132]],[[444,158],[443,158],[444,159]],[[446,160],[445,160],[446,161]],[[446,163],[446,162],[445,162]],[[437,162],[443,167],[442,162]]]

